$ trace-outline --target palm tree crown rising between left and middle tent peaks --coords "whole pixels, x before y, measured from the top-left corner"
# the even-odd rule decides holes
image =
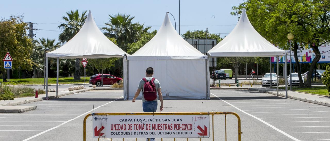
[[[134,16],[126,14],[109,15],[109,22],[104,23],[106,27],[102,27],[106,32],[105,36],[115,38],[121,49],[127,51],[127,44],[136,42],[140,39],[141,34],[147,32],[151,27],[144,28],[144,24],[134,23]]]

